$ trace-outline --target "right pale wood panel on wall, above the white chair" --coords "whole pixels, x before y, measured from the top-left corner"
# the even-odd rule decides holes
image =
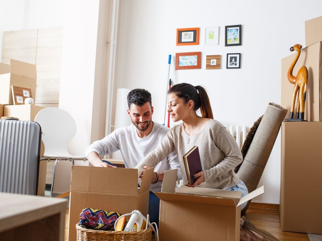
[[[63,27],[38,29],[35,103],[58,103],[62,65]]]

